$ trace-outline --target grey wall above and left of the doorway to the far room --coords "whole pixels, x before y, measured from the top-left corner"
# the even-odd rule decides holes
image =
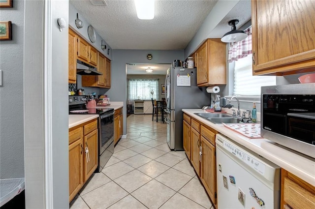
[[[148,60],[147,55],[153,59]],[[126,63],[168,64],[174,60],[184,60],[184,50],[113,50],[111,62],[111,88],[100,89],[100,94],[106,93],[111,101],[123,101],[124,134],[126,134]]]

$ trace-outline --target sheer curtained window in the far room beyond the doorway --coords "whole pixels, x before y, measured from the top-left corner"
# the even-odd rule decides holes
[[[128,81],[128,95],[129,100],[158,99],[158,79],[130,79]]]

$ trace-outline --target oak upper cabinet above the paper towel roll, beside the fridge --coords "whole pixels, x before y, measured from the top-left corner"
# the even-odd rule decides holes
[[[226,84],[226,44],[207,39],[196,51],[197,85]]]

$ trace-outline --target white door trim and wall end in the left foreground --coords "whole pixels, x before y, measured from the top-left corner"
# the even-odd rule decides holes
[[[15,2],[15,1],[14,1]],[[66,209],[68,187],[68,0],[25,2],[27,209]]]

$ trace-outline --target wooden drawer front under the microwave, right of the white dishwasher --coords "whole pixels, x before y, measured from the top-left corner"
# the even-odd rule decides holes
[[[296,182],[285,177],[284,202],[293,209],[314,209],[315,195]]]

